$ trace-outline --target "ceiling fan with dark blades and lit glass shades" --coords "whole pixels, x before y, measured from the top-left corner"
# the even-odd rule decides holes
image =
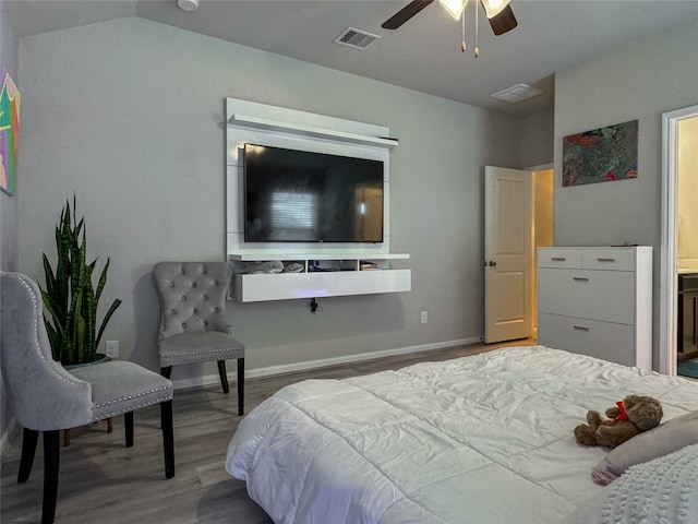
[[[384,29],[397,29],[433,1],[434,0],[414,0],[386,20],[381,27]],[[460,19],[468,3],[468,0],[438,1],[456,20]],[[514,12],[509,7],[509,0],[476,0],[476,3],[477,2],[482,3],[488,14],[490,26],[495,35],[503,35],[518,25]]]

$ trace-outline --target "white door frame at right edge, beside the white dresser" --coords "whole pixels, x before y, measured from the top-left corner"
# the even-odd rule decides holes
[[[698,117],[698,106],[662,115],[662,230],[660,262],[659,372],[676,374],[676,196],[678,191],[678,123]]]

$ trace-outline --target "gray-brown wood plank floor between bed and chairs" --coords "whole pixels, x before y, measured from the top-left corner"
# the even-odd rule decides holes
[[[502,346],[531,345],[524,340],[506,344],[461,346],[381,358],[364,362],[253,379],[245,384],[245,413],[280,388],[300,380],[342,379],[385,369],[398,369],[424,360],[445,360]],[[244,483],[224,468],[237,416],[234,388],[224,395],[220,385],[178,390],[174,393],[174,478],[165,479],[159,408],[135,412],[135,444],[124,448],[123,417],[71,431],[71,444],[61,448],[57,523],[236,523],[272,521],[246,493]],[[22,442],[21,430],[10,439],[2,455],[0,521],[39,522],[44,454],[37,449],[32,476],[16,483]]]

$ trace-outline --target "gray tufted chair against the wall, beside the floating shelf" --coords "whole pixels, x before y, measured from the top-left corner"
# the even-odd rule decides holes
[[[226,359],[238,360],[238,415],[244,413],[244,345],[226,313],[232,267],[228,262],[160,262],[153,271],[160,296],[160,372],[172,366],[216,360],[228,393]]]

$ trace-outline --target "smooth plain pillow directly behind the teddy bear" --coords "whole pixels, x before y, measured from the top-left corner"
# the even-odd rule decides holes
[[[698,410],[659,425],[623,442],[591,469],[595,484],[606,486],[635,464],[664,456],[690,444],[698,444]]]

